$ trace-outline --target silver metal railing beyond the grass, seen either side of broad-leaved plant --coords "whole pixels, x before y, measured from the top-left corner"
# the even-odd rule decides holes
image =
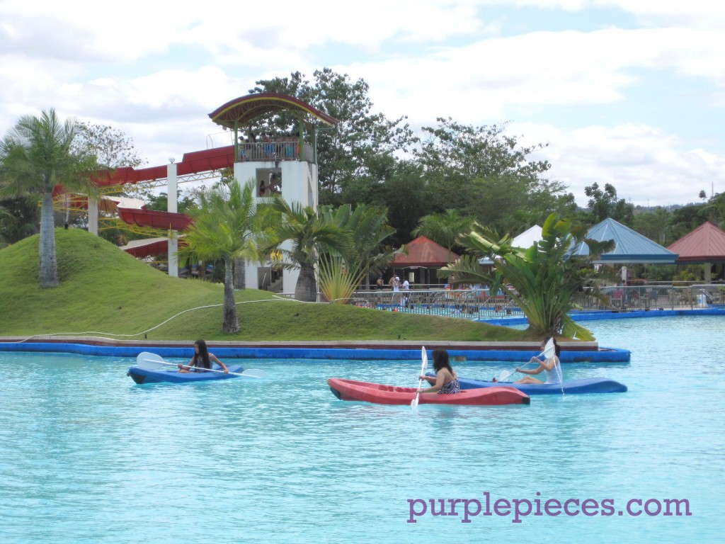
[[[642,285],[633,287],[604,287],[603,300],[590,291],[576,297],[578,310],[637,311],[708,308],[725,305],[724,285]],[[390,289],[357,291],[351,304],[363,308],[446,316],[466,319],[486,319],[523,316],[521,308],[502,292],[491,294],[488,289],[410,289],[393,292]]]

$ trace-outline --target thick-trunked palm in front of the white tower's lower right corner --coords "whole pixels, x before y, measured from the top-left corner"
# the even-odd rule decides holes
[[[350,244],[349,231],[318,215],[312,207],[299,202],[289,204],[276,196],[265,204],[265,253],[280,252],[283,268],[299,268],[295,300],[316,302],[318,293],[315,265],[321,252],[345,255]]]

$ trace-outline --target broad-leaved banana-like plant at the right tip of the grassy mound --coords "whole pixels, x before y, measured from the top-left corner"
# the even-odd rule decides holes
[[[499,238],[476,223],[471,233],[460,239],[471,255],[442,268],[439,276],[452,275],[453,284],[491,284],[492,292],[503,289],[528,318],[529,330],[541,337],[561,333],[592,340],[592,333],[568,313],[574,308],[574,295],[596,277],[593,261],[612,250],[614,242],[584,239],[586,230],[584,225],[552,213],[542,226],[542,240],[522,250],[511,245],[510,236]],[[589,246],[589,255],[568,258],[571,245],[582,241]],[[493,260],[492,272],[479,264],[481,257]]]

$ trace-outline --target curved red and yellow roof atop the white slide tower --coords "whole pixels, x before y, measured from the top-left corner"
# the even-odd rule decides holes
[[[263,115],[276,112],[300,112],[316,118],[326,125],[339,123],[331,115],[321,112],[307,102],[280,93],[255,93],[230,100],[209,114],[212,121],[226,128],[249,125]]]

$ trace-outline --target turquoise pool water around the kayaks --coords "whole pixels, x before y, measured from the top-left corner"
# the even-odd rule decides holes
[[[137,386],[130,359],[0,353],[0,542],[718,542],[724,324],[587,323],[631,363],[568,364],[565,377],[609,376],[624,394],[417,413],[336,400],[325,379],[413,385],[418,361],[259,360],[247,366],[263,381]],[[487,378],[510,363],[456,367]],[[462,523],[457,503],[459,516],[407,522],[423,500],[475,511],[484,493],[542,512],[610,499],[614,515]],[[692,515],[616,514],[632,499],[658,501],[651,512],[688,500]]]

